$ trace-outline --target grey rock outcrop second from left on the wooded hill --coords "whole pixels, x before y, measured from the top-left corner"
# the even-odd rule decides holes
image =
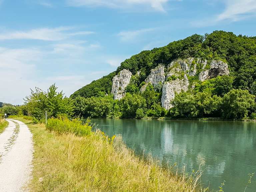
[[[146,85],[141,88],[141,91],[146,89],[148,83],[151,83],[155,90],[161,90],[165,81],[164,65],[159,64],[155,69],[152,69],[149,76],[145,79]]]

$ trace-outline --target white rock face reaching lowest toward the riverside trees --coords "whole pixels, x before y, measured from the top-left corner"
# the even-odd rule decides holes
[[[176,79],[172,81],[166,81],[163,85],[161,103],[162,107],[169,110],[172,106],[171,102],[175,97],[175,93],[180,93],[181,91],[187,91],[189,86],[189,81],[187,75],[184,74],[184,79]]]

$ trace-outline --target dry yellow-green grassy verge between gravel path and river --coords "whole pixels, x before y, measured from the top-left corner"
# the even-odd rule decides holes
[[[44,124],[15,118],[33,133],[33,192],[194,192],[200,173],[172,174],[149,159],[139,160],[100,132],[83,137],[48,131]],[[110,139],[111,140],[111,139]]]

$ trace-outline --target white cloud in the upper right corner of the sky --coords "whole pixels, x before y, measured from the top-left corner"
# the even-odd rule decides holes
[[[256,0],[226,0],[226,9],[218,15],[217,21],[237,21],[247,14],[255,14]]]

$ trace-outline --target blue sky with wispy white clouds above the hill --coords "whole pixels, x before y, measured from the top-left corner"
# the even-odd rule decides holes
[[[0,0],[0,101],[67,97],[142,50],[214,30],[256,36],[256,0]]]

